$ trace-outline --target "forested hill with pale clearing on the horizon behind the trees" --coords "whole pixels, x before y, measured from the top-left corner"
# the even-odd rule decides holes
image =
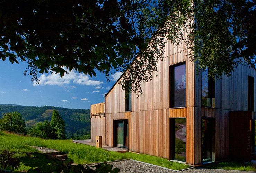
[[[58,110],[66,124],[68,138],[72,136],[90,134],[90,109],[68,109],[53,106],[21,106],[0,104],[0,118],[7,112],[18,111],[26,122],[32,127],[38,122],[51,120],[52,111]]]

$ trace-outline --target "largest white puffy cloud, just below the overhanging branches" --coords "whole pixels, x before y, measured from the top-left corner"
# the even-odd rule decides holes
[[[65,69],[66,70],[66,69]],[[69,70],[67,70],[69,71]],[[78,73],[77,71],[71,70],[69,74],[65,74],[62,78],[60,77],[60,74],[51,73],[49,75],[42,74],[38,78],[40,85],[58,85],[58,86],[64,86],[67,84],[70,84],[71,82],[79,85],[92,85],[92,86],[99,86],[100,84],[103,84],[101,81],[97,80],[91,80],[89,78],[89,75]],[[34,82],[34,86],[37,84]],[[71,89],[76,88],[75,86],[71,85],[69,86]]]

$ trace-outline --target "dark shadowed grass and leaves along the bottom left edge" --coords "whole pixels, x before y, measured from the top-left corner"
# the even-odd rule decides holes
[[[95,166],[71,165],[71,159],[62,161],[54,156],[38,152],[26,153],[24,157],[17,156],[15,152],[2,151],[0,153],[0,172],[27,172],[27,173],[69,173],[69,172],[109,172],[117,173],[118,168],[113,169],[110,164],[98,164]],[[24,170],[23,170],[24,169]]]

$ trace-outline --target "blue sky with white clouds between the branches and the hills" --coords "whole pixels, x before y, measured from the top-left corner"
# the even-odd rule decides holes
[[[122,74],[115,73],[110,82],[100,72],[92,78],[76,71],[63,78],[59,74],[38,74],[41,81],[36,85],[30,75],[23,75],[26,67],[26,62],[0,61],[0,103],[90,109],[91,104],[104,102],[104,93]]]

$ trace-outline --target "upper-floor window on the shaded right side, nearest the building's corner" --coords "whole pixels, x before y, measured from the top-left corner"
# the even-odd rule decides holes
[[[215,108],[215,82],[208,76],[208,69],[202,70],[202,97],[203,107]]]

